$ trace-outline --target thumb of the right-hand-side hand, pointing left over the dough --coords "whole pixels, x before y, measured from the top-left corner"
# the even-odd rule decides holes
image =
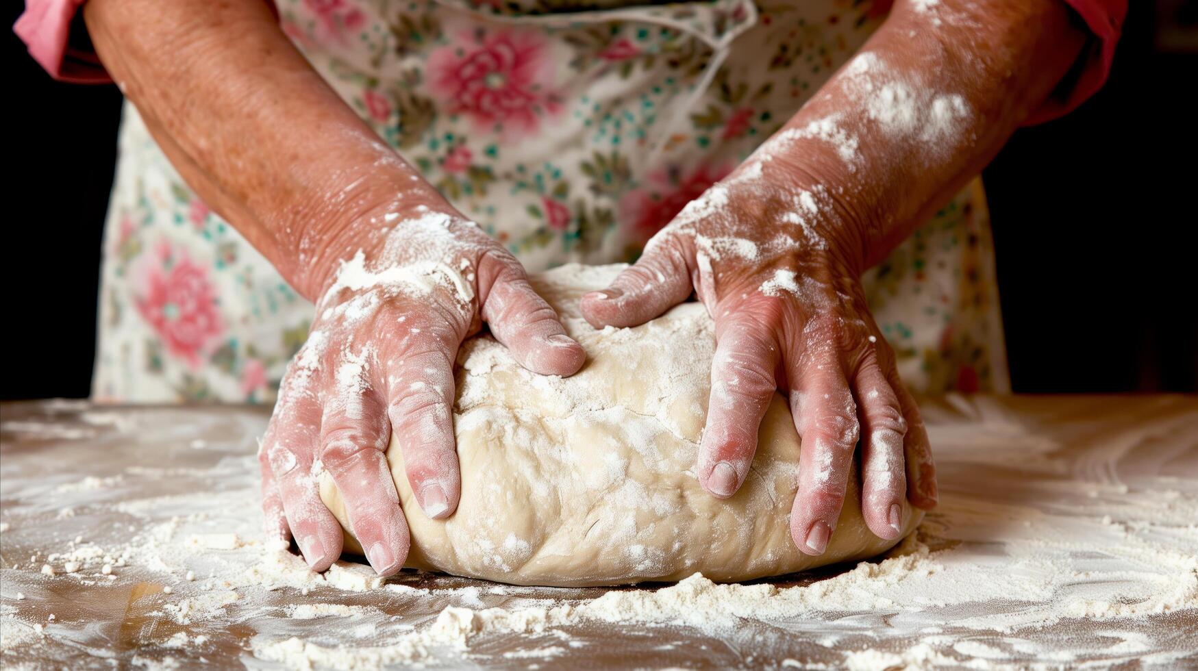
[[[685,301],[690,291],[680,243],[676,237],[658,237],[610,286],[582,296],[582,316],[595,328],[636,326]]]

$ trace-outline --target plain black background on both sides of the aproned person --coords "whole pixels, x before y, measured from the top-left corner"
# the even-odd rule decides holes
[[[1196,10],[1131,6],[1107,86],[984,174],[1016,392],[1198,391]],[[86,397],[121,95],[53,81],[4,43],[0,398]]]

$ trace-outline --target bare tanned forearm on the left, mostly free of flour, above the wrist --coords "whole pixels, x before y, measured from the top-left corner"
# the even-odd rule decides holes
[[[90,0],[96,50],[184,180],[309,298],[441,202],[325,84],[260,0]]]

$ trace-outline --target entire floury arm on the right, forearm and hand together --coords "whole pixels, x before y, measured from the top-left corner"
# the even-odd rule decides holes
[[[859,277],[1058,89],[1084,43],[1064,10],[895,2],[754,156],[611,288],[583,296],[592,325],[631,326],[698,294],[718,344],[697,470],[715,496],[744,483],[769,399],[788,392],[803,439],[791,534],[804,552],[828,546],[859,439],[861,510],[876,534],[896,537],[906,501],[936,504],[927,431]]]

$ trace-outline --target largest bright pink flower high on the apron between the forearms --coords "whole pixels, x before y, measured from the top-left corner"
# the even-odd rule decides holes
[[[553,62],[538,34],[467,34],[461,43],[430,54],[429,73],[434,95],[483,128],[501,123],[536,131],[541,115],[561,107],[552,89]]]

